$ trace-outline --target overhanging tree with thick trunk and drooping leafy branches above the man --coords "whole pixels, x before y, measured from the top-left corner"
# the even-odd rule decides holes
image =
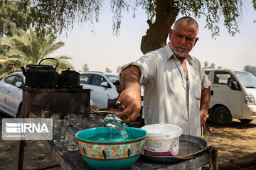
[[[37,31],[47,31],[47,33],[63,33],[63,30],[71,30],[75,21],[80,23],[97,23],[99,21],[100,11],[102,9],[102,0],[17,0],[17,9],[10,11],[23,11],[25,17],[22,23],[13,21],[12,16],[9,18],[13,23],[17,23],[16,27],[27,26],[33,18],[33,26]],[[11,0],[0,0],[0,7],[8,3],[14,3]],[[219,35],[219,23],[223,21],[224,26],[228,29],[230,35],[239,33],[238,23],[239,17],[242,14],[242,6],[245,1],[242,0],[111,0],[105,1],[112,11],[112,29],[114,35],[119,35],[122,23],[122,14],[124,11],[132,11],[135,16],[136,10],[139,6],[144,8],[148,15],[149,29],[146,35],[142,38],[141,50],[143,53],[149,50],[155,50],[166,45],[166,38],[169,35],[169,28],[173,25],[178,14],[183,16],[194,16],[200,18],[206,17],[206,28],[212,32],[213,38]],[[109,4],[107,4],[109,3]],[[250,2],[252,7],[256,10],[256,0]],[[29,6],[29,8],[28,8]],[[6,10],[3,10],[6,11]],[[3,12],[4,13],[4,12]],[[9,13],[11,16],[11,13]],[[4,15],[7,15],[6,13]],[[7,22],[8,23],[8,22]],[[9,24],[10,25],[10,24]],[[6,26],[6,25],[4,25]],[[13,25],[11,25],[13,27]],[[7,26],[7,28],[9,28]],[[0,30],[2,33],[5,30]]]

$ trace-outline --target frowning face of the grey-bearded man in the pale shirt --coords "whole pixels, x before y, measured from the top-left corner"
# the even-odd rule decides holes
[[[180,21],[174,30],[170,29],[170,47],[177,57],[186,57],[196,45],[196,24],[188,24]]]

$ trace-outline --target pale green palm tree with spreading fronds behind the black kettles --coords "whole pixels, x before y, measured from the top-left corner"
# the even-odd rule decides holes
[[[50,54],[60,47],[64,46],[64,42],[55,42],[56,37],[46,35],[46,33],[36,33],[33,28],[29,28],[29,32],[18,30],[18,32],[9,38],[0,40],[1,48],[5,48],[7,52],[5,60],[0,61],[2,69],[0,70],[0,79],[11,72],[21,71],[21,66],[26,64],[38,64],[40,60],[50,57]],[[61,72],[65,69],[74,69],[73,65],[68,62],[72,59],[67,56],[55,57],[59,66],[56,71]],[[45,62],[45,64],[53,64],[53,61]]]

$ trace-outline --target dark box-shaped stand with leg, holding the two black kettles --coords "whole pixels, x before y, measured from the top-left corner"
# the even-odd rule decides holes
[[[64,118],[68,113],[90,115],[90,89],[80,88],[28,88],[24,87],[22,96],[21,118],[28,118],[30,113],[41,118],[41,112],[61,113]],[[18,170],[23,169],[25,141],[21,140],[18,149]]]

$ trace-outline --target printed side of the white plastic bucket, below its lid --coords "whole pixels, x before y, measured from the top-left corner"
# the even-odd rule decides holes
[[[179,137],[172,140],[149,140],[146,137],[144,154],[150,156],[176,156],[178,154]]]

